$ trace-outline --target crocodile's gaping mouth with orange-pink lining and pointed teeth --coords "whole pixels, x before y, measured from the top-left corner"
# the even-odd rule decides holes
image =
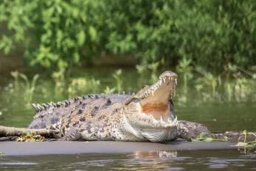
[[[168,72],[159,76],[159,81],[146,90],[139,101],[141,112],[155,120],[154,123],[173,123],[176,118],[170,118],[170,100],[176,93],[177,75]]]

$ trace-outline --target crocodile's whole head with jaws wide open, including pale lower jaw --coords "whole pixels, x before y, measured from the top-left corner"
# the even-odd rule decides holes
[[[159,76],[159,81],[143,87],[127,104],[125,116],[129,124],[142,131],[141,134],[147,139],[153,137],[154,141],[162,142],[167,138],[167,130],[176,128],[178,121],[170,103],[175,95],[176,84],[176,73],[165,71]],[[156,139],[158,134],[166,135]]]

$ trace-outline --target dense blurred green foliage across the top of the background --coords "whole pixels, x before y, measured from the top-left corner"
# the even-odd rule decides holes
[[[185,58],[207,68],[249,67],[256,63],[255,8],[252,0],[3,0],[0,23],[8,32],[0,49],[10,54],[24,45],[30,65],[53,70],[102,51],[134,54],[141,64]]]

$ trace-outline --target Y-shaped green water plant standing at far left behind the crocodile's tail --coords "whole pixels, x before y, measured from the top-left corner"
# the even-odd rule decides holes
[[[25,91],[24,91],[24,101],[27,104],[30,104],[31,101],[32,101],[32,96],[33,96],[34,90],[35,90],[35,83],[39,78],[39,74],[35,74],[35,76],[32,79],[31,84],[30,84],[29,79],[27,79],[27,76],[24,73],[20,73],[19,76],[22,79],[24,79],[25,85],[26,85],[26,88],[25,88]]]

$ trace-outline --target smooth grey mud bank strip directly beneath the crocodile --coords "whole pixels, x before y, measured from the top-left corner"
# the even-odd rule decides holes
[[[215,150],[237,148],[232,142],[185,142],[166,144],[153,142],[0,142],[0,152],[6,156],[77,154],[77,153],[134,153],[152,150]]]

